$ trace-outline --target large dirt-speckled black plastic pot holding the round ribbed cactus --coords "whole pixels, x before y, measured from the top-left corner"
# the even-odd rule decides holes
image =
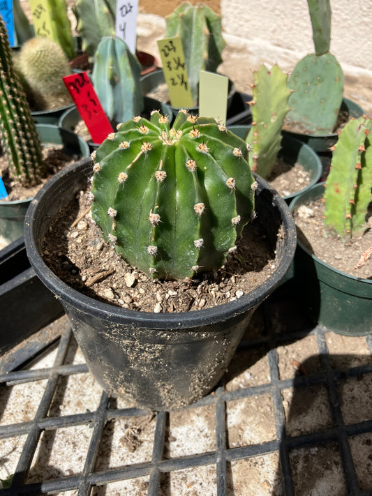
[[[108,393],[133,397],[155,410],[193,403],[216,386],[255,308],[288,271],[296,246],[288,206],[258,178],[257,222],[265,227],[278,257],[276,269],[261,287],[214,308],[139,312],[80,294],[52,273],[40,256],[50,220],[86,186],[90,175],[90,161],[82,160],[48,181],[31,202],[24,233],[31,265],[61,301],[91,372]]]

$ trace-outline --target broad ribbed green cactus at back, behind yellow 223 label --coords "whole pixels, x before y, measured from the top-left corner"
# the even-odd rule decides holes
[[[184,49],[188,83],[195,104],[198,101],[200,70],[216,72],[225,47],[221,16],[208,6],[181,3],[165,18],[165,38],[179,36]]]

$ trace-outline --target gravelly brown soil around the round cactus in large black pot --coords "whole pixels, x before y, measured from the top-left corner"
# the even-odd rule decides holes
[[[103,241],[89,206],[88,188],[50,226],[43,241],[43,257],[65,283],[106,303],[155,313],[208,308],[258,287],[278,263],[276,247],[269,246],[258,214],[218,271],[178,281],[151,279],[126,264],[114,247]],[[277,234],[283,235],[281,230]]]

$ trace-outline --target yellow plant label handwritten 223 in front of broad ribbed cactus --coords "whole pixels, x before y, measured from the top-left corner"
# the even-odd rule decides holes
[[[164,79],[168,86],[170,105],[193,107],[181,39],[178,37],[163,38],[163,40],[158,40],[158,47],[163,63]]]

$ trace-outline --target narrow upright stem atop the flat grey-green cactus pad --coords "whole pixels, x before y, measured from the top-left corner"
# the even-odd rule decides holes
[[[329,0],[307,0],[316,55],[329,52],[331,45],[331,5]]]

